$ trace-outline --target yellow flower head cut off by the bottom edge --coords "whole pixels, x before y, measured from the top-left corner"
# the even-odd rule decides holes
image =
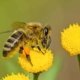
[[[11,74],[2,78],[2,80],[29,80],[24,74]]]

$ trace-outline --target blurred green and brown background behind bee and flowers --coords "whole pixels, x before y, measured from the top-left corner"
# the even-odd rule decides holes
[[[69,24],[80,23],[80,0],[0,0],[0,32],[12,29],[11,24],[15,21],[52,26],[54,64],[48,72],[40,75],[39,80],[80,80],[76,56],[70,57],[60,44],[60,32]],[[10,34],[0,35],[0,56]],[[27,75],[17,64],[17,57],[0,60],[0,78],[11,72]]]

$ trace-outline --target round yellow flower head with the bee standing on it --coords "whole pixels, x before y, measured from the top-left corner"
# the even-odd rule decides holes
[[[20,55],[19,64],[21,65],[21,67],[24,70],[32,73],[47,71],[52,65],[53,53],[48,49],[41,49],[41,51],[37,48],[30,50],[30,61],[25,55]]]

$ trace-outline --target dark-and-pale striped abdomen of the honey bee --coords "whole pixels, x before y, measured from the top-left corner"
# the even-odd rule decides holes
[[[6,57],[10,51],[12,51],[13,48],[17,46],[17,43],[19,42],[20,38],[22,37],[23,32],[22,31],[15,31],[6,41],[3,47],[3,56]]]

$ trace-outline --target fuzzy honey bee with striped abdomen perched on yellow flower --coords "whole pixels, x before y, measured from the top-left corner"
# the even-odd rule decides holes
[[[34,22],[16,22],[13,24],[13,27],[13,33],[3,46],[3,57],[8,57],[8,55],[15,51],[17,47],[19,49],[19,53],[21,53],[25,45],[29,48],[36,47],[40,51],[41,48],[49,48],[51,43],[51,27],[49,25],[44,26],[41,23]]]

